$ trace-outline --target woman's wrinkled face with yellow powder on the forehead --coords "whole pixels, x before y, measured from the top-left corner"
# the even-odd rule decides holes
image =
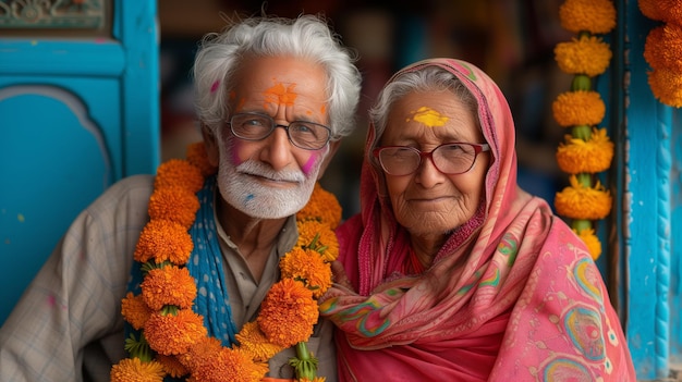
[[[380,146],[431,151],[447,143],[485,144],[476,116],[450,91],[410,93],[393,103]],[[476,157],[466,173],[443,174],[422,159],[409,175],[385,173],[395,219],[413,235],[443,235],[470,220],[485,193],[490,153]]]

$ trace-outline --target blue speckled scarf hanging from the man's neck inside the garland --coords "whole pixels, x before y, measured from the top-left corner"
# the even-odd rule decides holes
[[[194,249],[187,261],[187,269],[197,288],[193,310],[204,316],[204,325],[208,329],[208,335],[220,340],[223,346],[230,347],[236,342],[236,326],[232,320],[232,309],[222,268],[222,252],[218,244],[214,219],[216,176],[208,176],[204,182],[204,187],[196,195],[200,208],[188,231],[194,242]],[[131,278],[127,291],[139,295],[142,293],[139,284],[143,281],[139,263],[133,262]],[[135,330],[126,322],[125,337],[130,337],[133,332]],[[136,333],[136,337],[139,337],[139,333]]]

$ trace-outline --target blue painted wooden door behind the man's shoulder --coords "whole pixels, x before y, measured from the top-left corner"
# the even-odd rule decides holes
[[[0,324],[76,214],[159,162],[156,1],[0,1]]]

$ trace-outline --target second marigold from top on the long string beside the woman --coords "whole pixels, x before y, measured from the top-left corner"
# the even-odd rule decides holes
[[[564,73],[594,77],[609,66],[611,49],[598,37],[582,36],[580,39],[557,44],[555,60]]]

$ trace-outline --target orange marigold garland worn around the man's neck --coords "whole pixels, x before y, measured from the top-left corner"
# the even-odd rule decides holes
[[[143,270],[142,293],[127,293],[121,301],[123,318],[142,334],[125,341],[130,358],[111,368],[111,381],[162,381],[168,374],[193,382],[256,382],[267,380],[269,358],[295,345],[297,357],[290,365],[297,380],[324,382],[305,342],[319,317],[317,298],[331,286],[329,262],[339,255],[333,233],[341,221],[338,200],[315,185],[296,214],[299,241],[280,260],[282,279],[270,288],[258,318],[236,334],[239,345],[227,348],[207,335],[204,317],[192,310],[197,291],[185,267],[194,246],[187,230],[199,208],[196,193],[215,172],[200,143],[188,146],[186,160],[159,165],[150,220],[134,254]]]

